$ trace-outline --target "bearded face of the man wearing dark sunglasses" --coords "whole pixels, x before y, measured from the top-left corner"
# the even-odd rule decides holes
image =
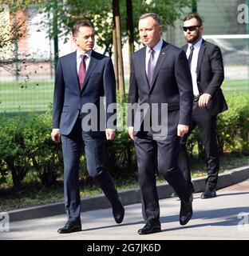
[[[192,26],[196,26],[196,27],[192,27]],[[187,42],[194,44],[200,40],[201,34],[204,31],[204,27],[199,25],[196,18],[192,18],[192,19],[189,19],[188,21],[185,21],[184,27],[190,27],[188,28],[187,31],[184,31],[184,37],[186,38]]]

